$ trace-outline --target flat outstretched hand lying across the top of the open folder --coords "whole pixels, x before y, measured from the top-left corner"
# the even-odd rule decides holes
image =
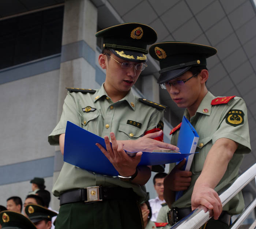
[[[137,139],[137,140],[127,140],[123,141],[124,149],[129,152],[153,152],[154,150],[157,152],[159,150],[179,150],[177,146],[154,140],[154,138],[159,137],[163,134],[163,131],[160,130],[155,133],[146,134],[145,136]]]

